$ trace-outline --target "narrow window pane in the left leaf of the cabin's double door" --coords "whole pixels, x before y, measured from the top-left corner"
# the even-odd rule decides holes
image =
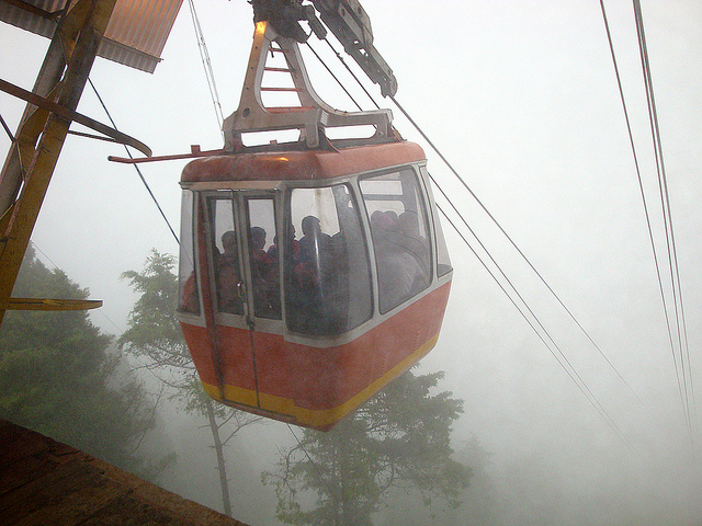
[[[233,192],[207,199],[210,214],[210,247],[217,308],[222,312],[244,315],[244,279],[239,265],[239,236],[235,220]]]

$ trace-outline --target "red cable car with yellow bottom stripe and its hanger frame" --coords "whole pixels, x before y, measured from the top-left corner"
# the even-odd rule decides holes
[[[267,66],[275,53],[284,68]],[[297,108],[262,104],[264,73],[282,69]],[[178,316],[212,398],[325,431],[437,343],[452,267],[426,156],[390,118],[324,104],[296,42],[257,24],[227,151],[181,175]],[[359,124],[373,136],[326,137]],[[301,140],[242,144],[286,128]]]

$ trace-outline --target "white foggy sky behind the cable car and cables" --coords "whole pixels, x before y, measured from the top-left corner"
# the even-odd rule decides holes
[[[700,392],[702,4],[642,4],[692,379]],[[251,8],[244,0],[196,5],[226,116],[239,100]],[[605,7],[654,235],[663,243],[633,9],[625,1]],[[456,444],[475,435],[492,454],[490,473],[509,502],[513,524],[627,524],[632,517],[637,524],[700,524],[700,419],[693,415],[690,434],[599,2],[385,0],[366,1],[364,8],[375,45],[397,76],[397,100],[629,384],[393,108],[399,132],[424,147],[432,174],[625,436],[618,437],[598,414],[444,224],[455,267],[453,289],[439,344],[422,361],[421,371],[446,370],[445,388],[465,400]],[[5,24],[0,37],[5,46],[0,76],[31,89],[48,41]],[[186,152],[193,144],[222,146],[186,2],[155,75],[98,59],[91,79],[117,127],[155,155]],[[332,105],[353,108],[330,82],[316,88]],[[12,128],[22,108],[0,94],[0,111]],[[79,112],[107,122],[90,88]],[[2,136],[3,152],[8,144]],[[33,241],[41,259],[104,301],[102,313],[92,319],[118,334],[135,299],[120,274],[140,270],[151,248],[173,254],[178,248],[134,170],[107,162],[110,155],[124,150],[68,138]],[[176,228],[183,165],[143,165]],[[274,442],[283,432],[271,424],[265,433],[271,435],[268,446],[257,444],[260,435],[251,433],[244,447],[273,461]]]

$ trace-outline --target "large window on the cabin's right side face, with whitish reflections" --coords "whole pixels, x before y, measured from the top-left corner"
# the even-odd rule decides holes
[[[371,222],[380,310],[385,313],[431,282],[427,209],[409,168],[366,178],[360,184]]]

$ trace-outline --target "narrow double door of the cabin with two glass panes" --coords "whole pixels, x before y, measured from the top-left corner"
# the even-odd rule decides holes
[[[282,333],[272,192],[206,196],[216,354],[225,401],[265,409],[268,342]]]

